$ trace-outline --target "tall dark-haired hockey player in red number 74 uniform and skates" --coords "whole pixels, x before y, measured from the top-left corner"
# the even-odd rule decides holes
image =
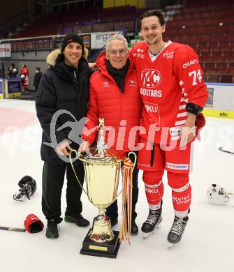
[[[191,142],[197,132],[196,118],[205,123],[200,112],[207,89],[196,52],[188,45],[163,41],[166,26],[161,10],[142,13],[139,22],[145,42],[137,43],[130,57],[138,71],[144,104],[138,168],[144,170],[149,216],[142,232],[147,236],[161,224],[166,169],[175,209],[168,241],[178,243],[189,220]]]

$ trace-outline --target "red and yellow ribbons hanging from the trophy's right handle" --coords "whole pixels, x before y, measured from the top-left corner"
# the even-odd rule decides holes
[[[135,156],[136,154],[133,153]],[[119,234],[120,243],[125,239],[129,240],[131,236],[131,213],[132,213],[132,188],[133,188],[133,169],[136,164],[132,163],[130,158],[124,159],[122,167],[122,226]]]

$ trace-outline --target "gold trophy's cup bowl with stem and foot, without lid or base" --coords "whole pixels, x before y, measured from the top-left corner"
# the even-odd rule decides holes
[[[121,162],[122,160],[90,163],[83,160],[87,195],[89,201],[99,211],[98,216],[94,218],[92,230],[89,232],[89,239],[96,243],[112,241],[115,237],[111,229],[110,218],[105,216],[105,209],[117,199]]]

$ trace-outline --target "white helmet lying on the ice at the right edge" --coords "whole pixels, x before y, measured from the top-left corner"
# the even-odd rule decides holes
[[[212,184],[206,192],[207,198],[214,204],[227,204],[234,199],[231,192],[226,192],[219,184]]]

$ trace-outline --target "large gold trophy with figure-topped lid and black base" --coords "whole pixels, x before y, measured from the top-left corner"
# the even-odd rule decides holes
[[[98,140],[94,149],[90,150],[89,155],[77,154],[85,167],[85,193],[99,211],[98,216],[94,218],[92,229],[89,229],[82,243],[80,254],[115,258],[119,250],[119,232],[112,231],[110,218],[105,216],[105,209],[117,199],[123,160],[108,151],[104,121],[99,119],[99,122]]]

